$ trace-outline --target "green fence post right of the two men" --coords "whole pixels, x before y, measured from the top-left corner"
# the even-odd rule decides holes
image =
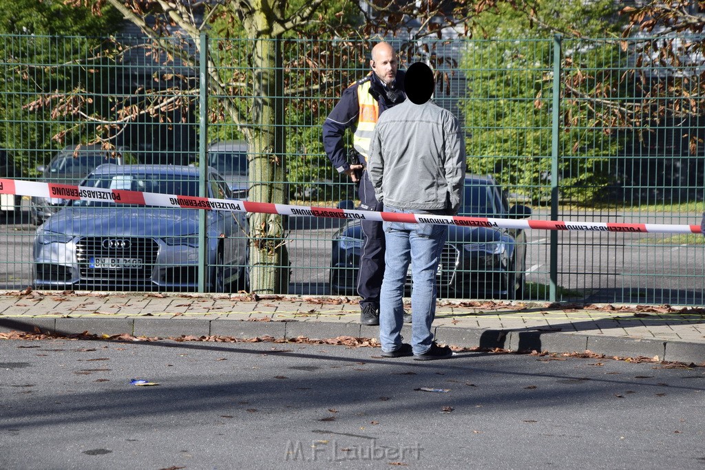
[[[561,35],[553,36],[553,113],[551,116],[551,221],[558,221],[558,131],[560,123]],[[551,230],[551,283],[548,300],[556,302],[558,285],[558,232]]]

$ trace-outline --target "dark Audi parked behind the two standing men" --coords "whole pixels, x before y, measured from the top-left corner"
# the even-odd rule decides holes
[[[491,176],[468,175],[459,216],[527,218],[531,209],[509,202]],[[362,231],[355,221],[333,237],[331,293],[355,295]],[[523,296],[525,230],[450,225],[438,272],[439,297],[515,299]],[[407,290],[411,278],[407,278]]]

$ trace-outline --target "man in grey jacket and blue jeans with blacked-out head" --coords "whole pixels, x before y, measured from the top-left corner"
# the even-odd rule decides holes
[[[368,171],[384,211],[455,215],[465,182],[465,145],[458,119],[431,101],[434,75],[424,63],[407,69],[407,101],[379,116],[370,143]],[[431,333],[436,314],[436,271],[448,235],[446,225],[384,222],[384,280],[379,338],[383,357],[445,359]],[[401,338],[407,268],[412,268],[412,340]]]

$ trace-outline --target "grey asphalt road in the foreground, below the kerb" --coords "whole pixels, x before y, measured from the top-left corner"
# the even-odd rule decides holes
[[[379,352],[0,341],[0,468],[705,467],[703,369]]]

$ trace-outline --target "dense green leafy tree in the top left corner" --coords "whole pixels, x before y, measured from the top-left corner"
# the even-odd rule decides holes
[[[76,84],[99,94],[106,83],[96,80],[90,70],[99,61],[81,60],[95,56],[104,41],[99,35],[105,37],[119,23],[113,8],[104,8],[102,16],[94,16],[87,8],[59,1],[0,0],[0,57],[4,58],[0,63],[0,80],[4,82],[0,146],[13,153],[25,175],[32,176],[35,164],[46,161],[67,137],[76,143],[87,140],[85,135],[67,135],[60,112],[52,112],[42,103],[50,100],[51,94],[71,92]],[[20,125],[28,113],[32,122]],[[62,137],[52,140],[56,135]]]

